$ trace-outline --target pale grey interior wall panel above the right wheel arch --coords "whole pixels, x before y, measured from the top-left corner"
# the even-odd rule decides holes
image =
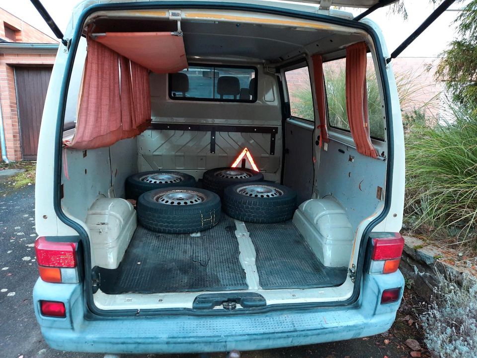
[[[333,139],[327,151],[321,150],[315,179],[318,196],[337,200],[354,229],[384,205],[385,182],[386,161],[361,155]]]

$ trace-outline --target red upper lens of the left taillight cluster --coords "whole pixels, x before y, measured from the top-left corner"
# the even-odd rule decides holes
[[[76,267],[76,244],[47,241],[39,237],[35,241],[36,260],[40,266]]]

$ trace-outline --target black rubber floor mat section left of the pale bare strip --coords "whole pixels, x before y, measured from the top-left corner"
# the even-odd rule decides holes
[[[226,215],[199,237],[138,226],[119,267],[98,268],[100,289],[108,294],[247,289],[235,230]]]

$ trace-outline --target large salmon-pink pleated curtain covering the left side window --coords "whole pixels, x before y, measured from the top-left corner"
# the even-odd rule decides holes
[[[149,71],[88,38],[88,53],[71,143],[75,149],[108,147],[133,138],[151,123]]]

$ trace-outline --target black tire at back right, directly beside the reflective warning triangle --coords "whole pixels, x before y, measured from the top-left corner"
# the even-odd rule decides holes
[[[236,175],[234,175],[236,174]],[[229,185],[263,180],[263,175],[247,168],[216,168],[208,170],[202,177],[202,187],[224,197],[224,189]]]

